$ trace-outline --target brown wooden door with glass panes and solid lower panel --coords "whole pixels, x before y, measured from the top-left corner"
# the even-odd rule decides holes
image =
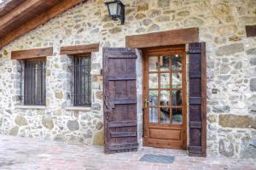
[[[148,49],[143,54],[143,144],[186,149],[185,47]]]

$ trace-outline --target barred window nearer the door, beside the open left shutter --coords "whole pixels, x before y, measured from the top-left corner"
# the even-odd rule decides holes
[[[73,105],[90,106],[90,55],[73,57]]]

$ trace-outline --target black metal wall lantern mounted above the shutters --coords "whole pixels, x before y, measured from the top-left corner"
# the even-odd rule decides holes
[[[108,7],[108,14],[112,20],[121,20],[121,24],[125,24],[125,5],[119,0],[105,3]]]

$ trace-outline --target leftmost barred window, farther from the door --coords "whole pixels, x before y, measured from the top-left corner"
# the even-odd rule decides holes
[[[45,105],[45,60],[24,63],[24,105]]]

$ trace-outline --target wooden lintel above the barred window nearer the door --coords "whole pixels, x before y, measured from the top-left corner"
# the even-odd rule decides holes
[[[88,45],[77,45],[77,46],[66,46],[61,47],[60,54],[87,54],[91,52],[99,51],[99,44],[88,44]]]

